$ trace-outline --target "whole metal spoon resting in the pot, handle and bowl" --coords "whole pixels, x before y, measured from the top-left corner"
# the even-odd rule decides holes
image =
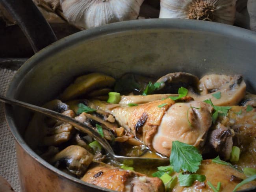
[[[5,96],[0,95],[0,101],[4,103],[9,103],[11,105],[19,105],[21,107],[25,107],[27,109],[30,109],[32,111],[36,111],[39,113],[43,113],[47,116],[50,116],[52,118],[56,118],[60,121],[63,121],[65,123],[68,123],[72,126],[74,126],[78,131],[81,131],[83,133],[87,133],[91,137],[93,137],[95,140],[97,140],[104,150],[106,151],[106,155],[116,164],[125,164],[128,166],[131,165],[143,165],[143,164],[152,164],[154,166],[160,166],[160,165],[166,165],[169,162],[169,158],[144,158],[144,157],[125,157],[125,156],[119,156],[115,155],[113,149],[111,148],[108,141],[101,137],[101,135],[93,129],[93,127],[87,126],[86,124],[79,122],[78,120],[71,118],[69,116],[63,115],[61,113],[58,113],[56,111],[52,111],[50,109],[46,109],[43,107],[39,107],[37,105],[32,105],[30,103],[21,102],[19,100],[7,98]]]

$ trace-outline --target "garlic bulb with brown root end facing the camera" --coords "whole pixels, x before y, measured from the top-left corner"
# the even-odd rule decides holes
[[[236,0],[161,0],[159,18],[189,18],[234,24]]]

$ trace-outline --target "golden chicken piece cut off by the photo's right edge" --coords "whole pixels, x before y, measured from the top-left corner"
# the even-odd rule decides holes
[[[235,131],[234,145],[240,148],[241,154],[234,165],[240,170],[245,167],[256,168],[256,109],[246,109],[247,107],[233,106],[227,118],[221,119],[222,124],[230,125]]]

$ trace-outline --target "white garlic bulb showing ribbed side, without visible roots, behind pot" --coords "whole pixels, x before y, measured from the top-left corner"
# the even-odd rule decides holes
[[[63,15],[76,26],[93,28],[136,19],[144,0],[60,0]]]

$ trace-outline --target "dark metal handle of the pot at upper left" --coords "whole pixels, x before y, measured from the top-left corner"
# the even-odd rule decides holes
[[[35,53],[57,41],[49,23],[32,0],[0,0],[0,4],[17,22]]]

